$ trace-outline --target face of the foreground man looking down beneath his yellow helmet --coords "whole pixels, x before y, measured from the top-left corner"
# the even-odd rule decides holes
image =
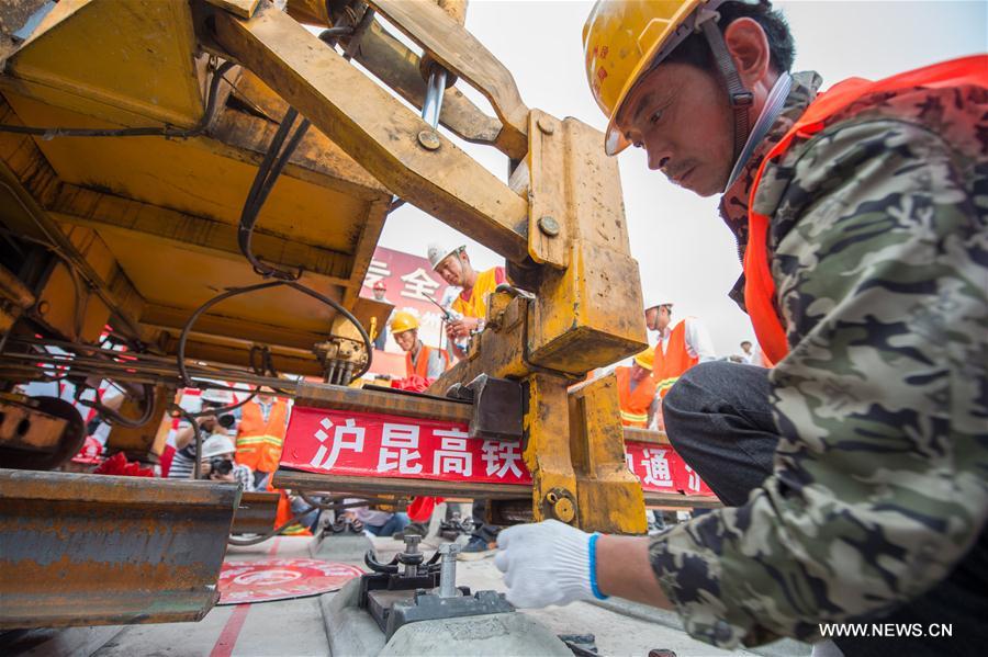
[[[720,80],[688,64],[661,64],[632,89],[617,127],[649,168],[700,196],[723,191],[733,161],[733,114]]]

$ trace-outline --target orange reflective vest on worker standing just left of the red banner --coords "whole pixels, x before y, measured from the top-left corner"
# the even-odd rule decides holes
[[[288,428],[288,403],[273,393],[268,386],[261,387],[244,405],[237,427],[236,461],[254,471],[256,487],[263,486],[263,480],[278,469]]]

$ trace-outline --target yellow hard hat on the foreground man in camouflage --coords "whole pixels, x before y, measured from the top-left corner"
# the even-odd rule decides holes
[[[583,25],[586,80],[608,118],[604,150],[616,155],[628,139],[615,116],[639,78],[693,33],[699,9],[722,0],[597,0]]]

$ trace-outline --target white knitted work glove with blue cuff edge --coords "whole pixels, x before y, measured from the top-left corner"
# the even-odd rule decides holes
[[[507,601],[518,608],[569,604],[574,600],[600,599],[591,584],[591,539],[558,520],[519,524],[497,534],[494,565],[504,573]],[[593,574],[596,579],[596,573]]]

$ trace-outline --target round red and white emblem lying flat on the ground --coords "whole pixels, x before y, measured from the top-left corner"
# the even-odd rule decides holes
[[[363,575],[357,566],[319,559],[261,559],[223,564],[218,604],[305,598],[339,590]]]

